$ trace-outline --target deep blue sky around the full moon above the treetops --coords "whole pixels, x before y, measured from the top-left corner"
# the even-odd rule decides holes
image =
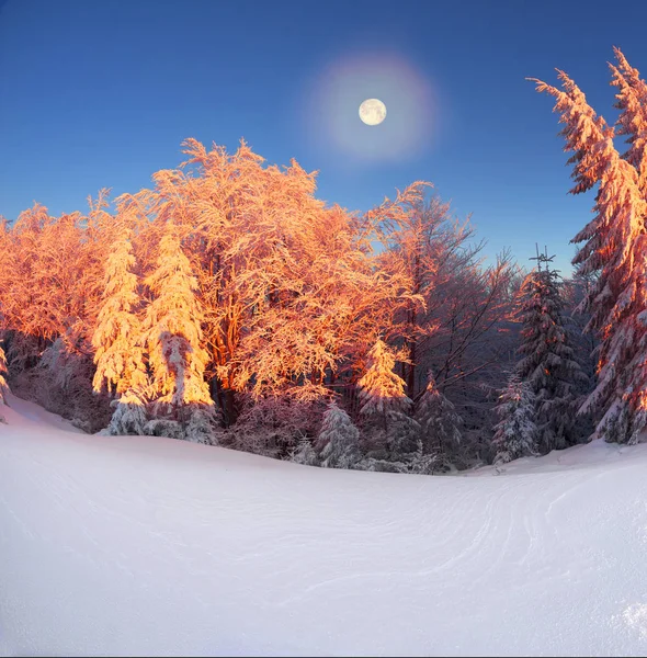
[[[13,219],[34,200],[54,214],[86,209],[102,186],[135,192],[154,171],[175,167],[185,137],[229,149],[245,137],[271,163],[294,157],[318,169],[320,197],[350,209],[432,181],[461,216],[473,213],[488,254],[508,246],[527,264],[538,241],[566,266],[592,197],[566,194],[552,100],[524,78],[554,81],[563,68],[613,118],[606,61],[618,45],[647,73],[647,2],[620,18],[611,9],[522,0],[0,0],[0,214]],[[373,63],[366,89],[344,72],[357,58]],[[393,70],[390,88],[381,87],[381,67],[393,61],[416,71],[431,100],[424,126],[419,112],[411,128],[420,148],[385,159],[379,139],[398,150],[394,126],[407,129],[400,101],[408,111],[418,103],[416,84],[394,88]],[[361,124],[353,93],[390,94],[386,122]]]

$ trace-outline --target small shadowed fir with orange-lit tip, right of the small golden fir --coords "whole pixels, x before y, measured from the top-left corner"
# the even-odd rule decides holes
[[[423,445],[429,454],[442,455],[446,461],[452,450],[459,445],[463,419],[454,405],[439,390],[431,371],[427,388],[418,404],[416,420],[420,424]]]

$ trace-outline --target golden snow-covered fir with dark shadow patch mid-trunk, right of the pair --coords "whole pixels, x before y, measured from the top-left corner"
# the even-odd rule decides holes
[[[143,331],[152,371],[155,407],[170,410],[183,435],[213,443],[208,432],[215,410],[204,371],[208,354],[202,344],[203,311],[197,281],[172,225],[159,245],[157,266],[146,279],[154,295],[146,309]]]

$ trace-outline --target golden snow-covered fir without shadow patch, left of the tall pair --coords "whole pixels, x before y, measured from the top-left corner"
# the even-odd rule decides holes
[[[105,385],[116,394],[110,434],[143,434],[146,424],[143,390],[147,376],[138,317],[141,302],[130,239],[132,231],[125,229],[107,258],[102,305],[92,336],[97,365],[93,388],[100,392]]]

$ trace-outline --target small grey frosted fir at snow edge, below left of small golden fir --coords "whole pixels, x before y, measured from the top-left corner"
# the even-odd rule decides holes
[[[349,415],[334,402],[330,402],[316,443],[321,466],[352,468],[362,456],[359,440],[360,432]]]

